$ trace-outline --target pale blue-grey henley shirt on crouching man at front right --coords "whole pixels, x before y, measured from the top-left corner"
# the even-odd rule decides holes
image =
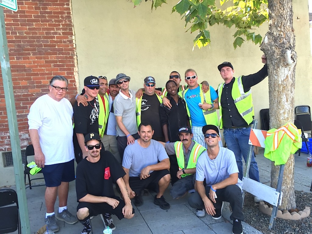
[[[227,148],[220,147],[219,154],[215,159],[210,159],[207,151],[202,152],[197,159],[196,180],[204,181],[206,179],[206,186],[220,183],[233,173],[238,173],[236,158],[233,151]],[[243,182],[240,179],[236,185],[242,190]]]

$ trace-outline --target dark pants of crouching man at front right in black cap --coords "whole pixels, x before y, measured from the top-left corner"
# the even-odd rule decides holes
[[[205,187],[206,189],[206,195],[209,198],[209,191],[210,187]],[[236,185],[229,185],[225,188],[217,189],[216,195],[218,198],[216,198],[217,203],[213,203],[213,206],[216,209],[220,209],[222,206],[222,202],[230,202],[232,207],[232,215],[230,216],[231,220],[241,220],[244,221],[244,215],[242,212],[242,204],[243,204],[243,198],[241,196],[241,189]],[[210,198],[209,198],[210,199]],[[205,209],[204,202],[202,201],[202,198],[200,197],[198,192],[193,193],[188,198],[188,204],[195,208],[195,209]]]

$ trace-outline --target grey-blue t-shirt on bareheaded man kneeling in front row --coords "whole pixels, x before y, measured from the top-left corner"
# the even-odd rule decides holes
[[[124,150],[122,166],[129,169],[130,177],[137,177],[141,174],[143,168],[157,164],[158,161],[161,162],[166,158],[168,158],[166,150],[158,141],[152,139],[149,147],[143,148],[138,140],[135,140],[134,144],[128,145]]]

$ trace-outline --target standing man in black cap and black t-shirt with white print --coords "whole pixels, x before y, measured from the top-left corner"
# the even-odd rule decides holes
[[[99,132],[99,99],[97,97],[100,89],[99,79],[88,76],[84,80],[85,95],[88,105],[74,105],[74,149],[76,162],[79,163],[87,156],[85,150],[85,134],[88,132]]]

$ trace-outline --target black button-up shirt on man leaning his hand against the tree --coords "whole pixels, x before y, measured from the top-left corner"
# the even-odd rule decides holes
[[[265,64],[263,68],[255,74],[249,76],[242,76],[241,81],[244,87],[244,92],[248,92],[250,88],[259,82],[261,82],[268,75],[267,65]],[[221,107],[222,107],[222,120],[224,128],[232,127],[246,127],[251,123],[246,123],[246,121],[239,114],[232,97],[232,87],[235,77],[230,83],[224,84],[221,95]]]

